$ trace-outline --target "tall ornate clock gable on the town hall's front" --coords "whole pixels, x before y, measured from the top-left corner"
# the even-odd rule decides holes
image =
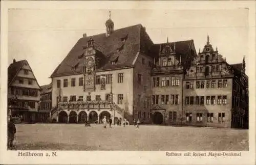
[[[95,54],[94,41],[92,38],[87,42],[86,49],[84,50],[84,91],[94,92],[95,91]]]

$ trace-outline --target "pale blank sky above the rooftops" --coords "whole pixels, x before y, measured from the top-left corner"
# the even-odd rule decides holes
[[[9,9],[8,66],[26,59],[40,86],[83,33],[105,33],[109,10]],[[114,30],[141,23],[154,43],[194,40],[210,43],[229,64],[248,63],[248,10],[111,10]],[[246,66],[248,68],[248,65]],[[248,69],[246,70],[246,72]]]

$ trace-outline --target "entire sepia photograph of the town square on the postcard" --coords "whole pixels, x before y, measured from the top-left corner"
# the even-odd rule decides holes
[[[1,119],[4,148],[16,157],[163,151],[238,158],[249,151],[255,54],[248,8],[6,13]]]

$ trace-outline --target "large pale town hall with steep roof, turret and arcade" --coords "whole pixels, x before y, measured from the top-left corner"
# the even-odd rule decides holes
[[[104,34],[83,35],[51,75],[52,121],[149,119],[153,42],[141,24],[105,26]]]

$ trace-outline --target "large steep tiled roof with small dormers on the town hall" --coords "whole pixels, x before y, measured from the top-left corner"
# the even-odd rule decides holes
[[[148,52],[153,45],[141,24],[115,30],[109,37],[106,37],[103,33],[80,38],[51,77],[82,73],[84,65],[83,47],[87,45],[90,38],[94,40],[94,48],[97,50],[96,57],[100,61],[97,70],[132,66],[137,52]],[[125,39],[125,41],[122,41],[122,39]],[[117,49],[121,50],[118,52]],[[117,59],[117,57],[116,64],[111,65],[111,60]],[[72,67],[75,69],[72,70]]]

